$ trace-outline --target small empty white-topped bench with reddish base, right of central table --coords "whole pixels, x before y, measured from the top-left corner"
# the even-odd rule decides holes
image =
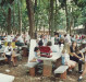
[[[59,68],[57,68],[56,70],[54,70],[54,74],[56,73],[60,73],[61,75],[60,75],[60,78],[61,79],[66,79],[66,70],[69,69],[69,67],[67,66],[60,66]]]

